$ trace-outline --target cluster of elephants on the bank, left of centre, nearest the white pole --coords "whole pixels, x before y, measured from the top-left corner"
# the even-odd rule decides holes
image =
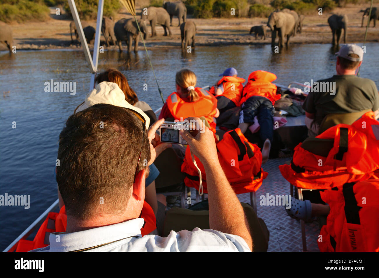
[[[118,45],[119,50],[122,51],[122,42],[125,41],[128,52],[132,49],[132,44],[134,42],[134,52],[138,50],[138,41],[140,32],[143,34],[144,39],[147,37],[147,25],[149,22],[151,26],[151,37],[157,36],[157,31],[155,30],[156,25],[161,25],[164,30],[164,36],[171,36],[171,26],[172,18],[177,16],[179,19],[179,26],[182,36],[182,48],[185,45],[191,43],[194,47],[196,26],[192,21],[186,21],[187,9],[186,6],[178,2],[164,2],[163,7],[149,7],[144,8],[141,14],[141,19],[138,19],[138,26],[135,19],[120,19],[114,23],[111,17],[103,17],[102,21],[102,33],[105,37],[106,45],[109,47],[110,42],[113,45]],[[180,22],[183,21],[182,24]],[[88,25],[87,22],[82,21],[83,32],[87,43],[90,43],[94,37],[96,30]],[[139,27],[139,29],[138,29]],[[75,34],[78,39],[77,30],[75,23],[70,23],[70,34],[72,41],[72,34]]]

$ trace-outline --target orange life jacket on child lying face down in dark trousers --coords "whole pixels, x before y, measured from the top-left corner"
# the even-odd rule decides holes
[[[275,79],[276,75],[274,75],[274,73],[264,70],[256,70],[250,73],[247,84],[243,88],[240,105],[251,96],[265,96],[271,100],[274,105],[275,101],[280,99],[280,95],[276,94],[276,85],[271,83]]]

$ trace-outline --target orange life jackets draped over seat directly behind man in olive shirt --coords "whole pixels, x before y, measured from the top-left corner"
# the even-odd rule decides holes
[[[379,169],[379,122],[365,113],[351,126],[338,124],[316,138],[334,139],[327,157],[298,144],[291,165],[280,165],[283,177],[300,188],[330,189],[348,182],[368,180]],[[375,172],[376,171],[376,172]]]

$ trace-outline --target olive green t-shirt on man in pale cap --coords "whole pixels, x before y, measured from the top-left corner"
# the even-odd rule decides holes
[[[313,90],[318,90],[318,92],[309,92],[302,106],[306,112],[315,113],[316,124],[321,124],[324,117],[330,113],[379,109],[378,90],[374,81],[370,79],[355,75],[334,75],[317,82],[318,88],[313,85]],[[328,83],[332,86],[328,91],[326,86],[320,85],[323,84],[321,82],[335,82],[335,86],[332,85],[333,83]],[[330,92],[331,88],[334,89],[333,92]]]

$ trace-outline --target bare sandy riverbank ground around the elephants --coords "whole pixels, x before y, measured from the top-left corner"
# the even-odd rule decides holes
[[[362,22],[362,5],[348,5],[346,8],[336,8],[333,13],[346,14],[349,19],[346,42],[363,43],[365,27],[360,27]],[[51,19],[46,22],[27,22],[22,24],[12,24],[14,42],[17,49],[75,49],[81,48],[80,43],[71,43],[69,24],[70,19],[65,15],[56,16],[55,9],[51,10]],[[330,12],[318,15],[315,11],[313,15],[305,16],[304,27],[301,34],[291,37],[290,43],[331,43],[332,33],[327,23]],[[121,18],[132,17],[126,11],[121,11],[116,16],[116,21]],[[249,35],[251,26],[266,25],[267,18],[232,18],[232,19],[190,19],[196,24],[196,45],[198,46],[222,46],[222,45],[250,45],[271,43],[271,32],[267,28],[265,40]],[[366,20],[365,20],[366,21]],[[96,27],[95,21],[89,23]],[[164,37],[163,28],[157,26],[156,37],[150,36],[150,26],[148,26],[149,36],[146,40],[148,48],[177,48],[180,47],[180,29],[178,19],[174,18],[171,27],[172,36]],[[379,42],[379,24],[372,27],[371,22],[368,29],[367,42]],[[341,41],[343,42],[343,34]],[[102,37],[101,43],[105,44]],[[90,46],[91,48],[91,46]],[[116,46],[111,46],[116,48]],[[124,44],[124,50],[126,46]]]

